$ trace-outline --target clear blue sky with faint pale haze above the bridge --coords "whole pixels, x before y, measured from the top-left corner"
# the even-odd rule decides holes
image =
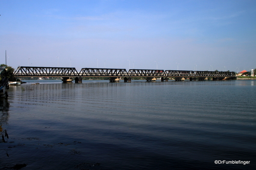
[[[256,68],[255,0],[0,0],[0,15],[15,69]]]

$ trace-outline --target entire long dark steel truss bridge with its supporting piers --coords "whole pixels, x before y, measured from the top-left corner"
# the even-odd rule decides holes
[[[159,70],[159,69],[99,69],[82,68],[77,72],[71,67],[32,67],[19,66],[14,72],[16,77],[61,77],[63,82],[72,81],[75,78],[76,83],[82,83],[83,77],[109,77],[110,82],[120,81],[130,82],[134,77],[146,78],[147,81],[168,81],[169,78],[175,78],[180,81],[185,78],[192,80],[206,80],[211,77],[212,80],[223,80],[235,78],[235,72],[209,72],[209,71],[186,71],[186,70]]]

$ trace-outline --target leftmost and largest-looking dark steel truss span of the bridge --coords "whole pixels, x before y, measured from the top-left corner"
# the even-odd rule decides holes
[[[71,67],[29,67],[19,66],[14,72],[17,77],[75,77],[77,70]]]

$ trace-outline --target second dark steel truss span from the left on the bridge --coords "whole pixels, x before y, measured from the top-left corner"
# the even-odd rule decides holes
[[[82,68],[81,77],[123,77],[128,76],[126,69]]]

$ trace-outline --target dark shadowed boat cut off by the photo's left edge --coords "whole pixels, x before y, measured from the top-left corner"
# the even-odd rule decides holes
[[[0,66],[0,97],[8,97],[8,78],[6,77],[6,66]]]

